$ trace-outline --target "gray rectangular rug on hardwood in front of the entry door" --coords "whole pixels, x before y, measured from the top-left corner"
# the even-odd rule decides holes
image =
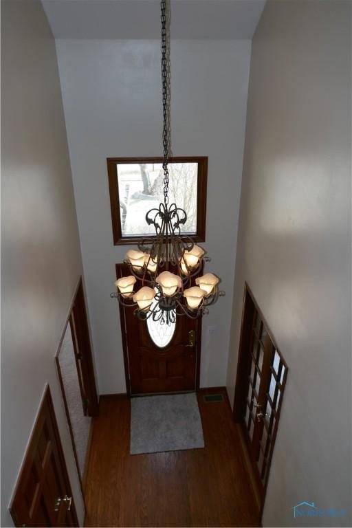
[[[195,393],[131,399],[131,454],[203,447]]]

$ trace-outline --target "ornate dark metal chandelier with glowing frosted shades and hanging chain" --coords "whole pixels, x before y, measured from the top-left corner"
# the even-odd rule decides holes
[[[162,112],[164,160],[164,202],[159,208],[146,213],[146,223],[153,225],[155,236],[151,241],[142,239],[138,250],[129,250],[124,263],[131,275],[115,282],[117,291],[110,294],[124,306],[135,306],[140,320],[150,317],[170,325],[177,316],[196,319],[208,314],[208,306],[217,302],[225,292],[219,290],[220,279],[212,274],[199,274],[204,263],[210,261],[206,251],[196,245],[190,236],[181,234],[187,214],[176,203],[168,203],[170,175],[170,39],[168,0],[161,1],[162,20]],[[134,291],[135,283],[142,287]]]

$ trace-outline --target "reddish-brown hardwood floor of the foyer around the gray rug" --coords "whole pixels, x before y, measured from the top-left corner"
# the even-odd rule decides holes
[[[129,454],[129,399],[100,400],[87,468],[86,526],[260,525],[228,401],[205,403],[203,394],[198,401],[206,448],[138,455]]]

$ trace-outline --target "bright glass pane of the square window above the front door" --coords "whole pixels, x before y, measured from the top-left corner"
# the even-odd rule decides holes
[[[170,163],[169,203],[186,210],[181,231],[197,232],[197,163]],[[122,236],[154,235],[147,225],[146,212],[164,200],[164,173],[161,163],[118,164],[118,193]]]

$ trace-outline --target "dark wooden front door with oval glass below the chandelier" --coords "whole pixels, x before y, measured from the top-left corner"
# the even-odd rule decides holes
[[[128,275],[128,266],[117,264],[116,274]],[[201,320],[181,316],[170,328],[140,321],[134,310],[120,305],[127,391],[134,395],[197,390]]]

